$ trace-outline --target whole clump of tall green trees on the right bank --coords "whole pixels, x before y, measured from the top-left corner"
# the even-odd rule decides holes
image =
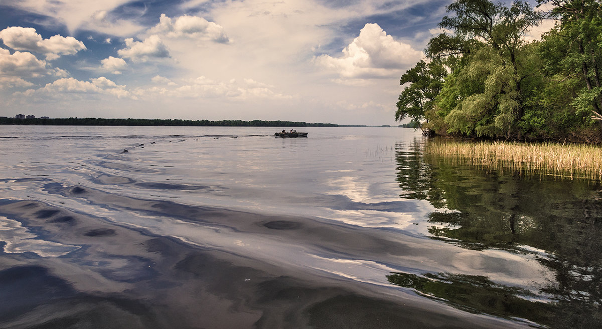
[[[425,134],[602,142],[602,1],[456,0],[400,79],[396,120]],[[525,36],[548,19],[542,40]]]

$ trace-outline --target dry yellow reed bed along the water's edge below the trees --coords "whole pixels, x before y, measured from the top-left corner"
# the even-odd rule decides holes
[[[602,148],[595,145],[438,140],[425,154],[519,175],[602,180]]]

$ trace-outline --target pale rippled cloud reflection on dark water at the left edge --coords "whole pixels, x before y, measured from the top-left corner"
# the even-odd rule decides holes
[[[29,233],[21,223],[6,217],[0,217],[0,241],[6,243],[5,253],[33,252],[42,257],[64,256],[79,249],[78,246],[37,239],[36,235]]]

